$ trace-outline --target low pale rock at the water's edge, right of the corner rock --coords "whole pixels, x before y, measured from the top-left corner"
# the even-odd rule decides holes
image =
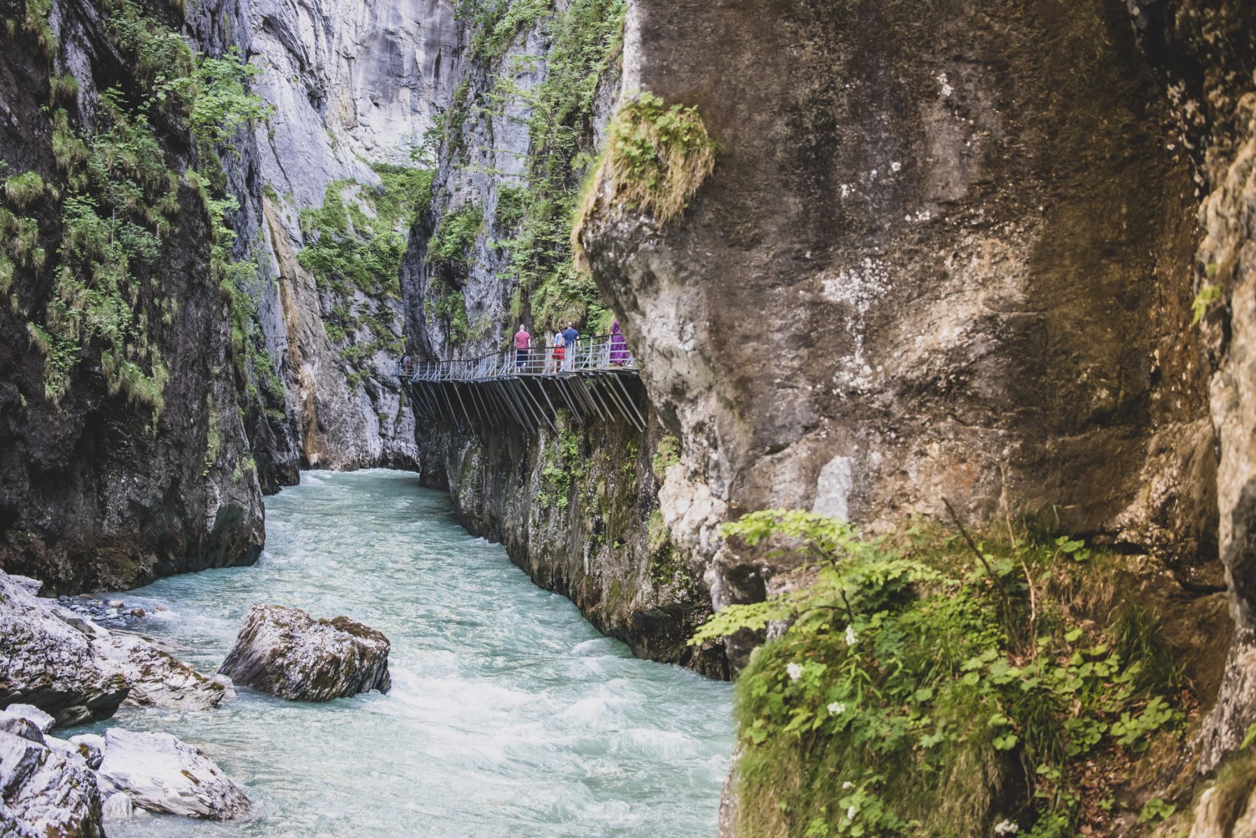
[[[104,734],[100,792],[124,792],[149,812],[227,820],[249,812],[249,798],[200,748],[170,734],[113,727]]]

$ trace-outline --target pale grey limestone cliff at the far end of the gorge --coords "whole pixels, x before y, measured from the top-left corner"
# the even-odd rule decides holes
[[[388,166],[416,165],[412,150],[447,98],[452,9],[263,1],[249,4],[246,21],[250,62],[263,70],[256,89],[275,109],[256,127],[250,165],[265,182],[260,250],[278,288],[264,323],[299,464],[413,467],[413,417],[392,377],[403,332],[397,261],[411,219],[383,224],[378,210],[417,199],[413,181],[389,177],[398,170]],[[320,210],[342,204],[357,211],[352,224],[318,224]],[[301,256],[333,240],[343,245],[337,264]]]

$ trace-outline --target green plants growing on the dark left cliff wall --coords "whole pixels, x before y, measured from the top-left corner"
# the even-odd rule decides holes
[[[39,36],[45,54],[57,52],[46,24],[50,4],[28,0],[25,29]],[[59,202],[60,248],[54,264],[51,299],[43,305],[43,322],[28,323],[28,335],[45,358],[44,392],[59,401],[82,357],[99,353],[99,366],[111,395],[146,406],[156,423],[170,379],[153,339],[156,328],[171,327],[175,300],[165,297],[153,275],[176,221],[183,212],[182,181],[200,192],[210,219],[210,269],[231,302],[232,337],[239,330],[256,337],[255,303],[242,285],[255,275],[247,261],[234,259],[235,234],[227,217],[237,207],[222,197],[225,175],[216,146],[236,128],[268,114],[261,99],[246,92],[257,70],[239,55],[215,59],[193,53],[186,40],[147,15],[134,0],[103,0],[102,20],[113,45],[132,62],[138,90],[102,90],[90,132],[70,124],[59,104],[78,95],[78,80],[64,74],[49,78],[49,122],[57,183],[36,172],[10,177],[0,207],[5,254],[0,256],[0,289],[14,310],[26,305],[13,290],[14,264],[40,270],[46,255],[38,246],[39,226],[11,211],[43,195]],[[46,43],[45,43],[46,41]],[[181,173],[167,165],[157,123],[187,127],[196,141],[200,172]],[[39,307],[39,302],[28,302]],[[249,323],[242,323],[250,320]],[[256,340],[235,340],[237,369],[254,389],[257,373],[274,376],[274,362]]]

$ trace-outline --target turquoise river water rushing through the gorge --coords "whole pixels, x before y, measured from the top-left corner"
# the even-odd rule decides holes
[[[121,598],[205,671],[252,603],[348,614],[392,641],[393,688],[328,704],[241,690],[206,712],[121,711],[95,729],[200,745],[257,817],[141,817],[111,822],[112,838],[715,834],[727,685],[634,660],[501,547],[468,536],[413,475],[304,474],[268,500],[257,565]]]

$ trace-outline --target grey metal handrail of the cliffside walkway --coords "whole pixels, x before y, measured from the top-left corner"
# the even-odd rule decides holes
[[[617,340],[618,338],[618,340]],[[588,372],[637,372],[637,359],[622,335],[582,335],[574,346],[530,342],[528,349],[502,349],[479,358],[398,364],[397,376],[418,381],[491,381],[519,376],[566,376]]]

